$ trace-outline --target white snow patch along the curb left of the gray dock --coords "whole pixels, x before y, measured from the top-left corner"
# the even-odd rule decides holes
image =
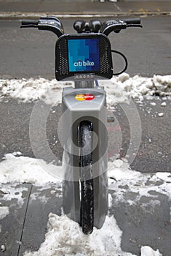
[[[49,175],[45,170],[49,167],[56,171],[61,171],[60,166],[47,164],[44,160],[31,159],[29,157],[16,157],[14,154],[6,154],[4,161],[0,162],[0,181],[1,183],[32,183],[36,185],[48,182],[59,183],[57,178]]]

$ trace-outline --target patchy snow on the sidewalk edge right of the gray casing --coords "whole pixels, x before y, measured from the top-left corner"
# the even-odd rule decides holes
[[[157,193],[171,199],[171,173],[140,173],[130,169],[127,159],[116,159],[109,162],[108,177],[109,189],[115,191],[115,203],[127,201],[130,205],[135,205],[141,197],[148,197],[150,211],[153,211],[154,206],[160,204]],[[129,192],[134,194],[132,199],[127,198]],[[143,203],[141,205],[143,207]]]

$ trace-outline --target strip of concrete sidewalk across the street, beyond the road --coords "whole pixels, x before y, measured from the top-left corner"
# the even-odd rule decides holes
[[[0,0],[0,18],[55,15],[170,15],[171,1]]]

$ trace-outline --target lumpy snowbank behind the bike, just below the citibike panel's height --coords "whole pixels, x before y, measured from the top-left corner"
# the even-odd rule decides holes
[[[108,94],[108,104],[127,102],[130,97],[143,99],[143,95],[171,96],[171,75],[154,75],[153,78],[143,78],[123,73],[111,80],[100,80],[100,86],[105,86]],[[73,83],[57,82],[57,80],[11,79],[0,80],[0,98],[13,97],[23,102],[43,99],[49,105],[61,102],[61,90]]]

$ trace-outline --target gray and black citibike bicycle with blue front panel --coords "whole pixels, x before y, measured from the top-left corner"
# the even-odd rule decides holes
[[[55,76],[72,80],[63,89],[62,144],[63,211],[82,227],[85,234],[102,227],[108,212],[108,132],[106,91],[98,79],[114,74],[108,34],[127,27],[142,27],[139,18],[76,20],[76,34],[65,34],[58,18],[22,20],[21,28],[49,30],[57,35]],[[122,72],[127,69],[127,59]],[[120,73],[122,73],[120,72]]]

